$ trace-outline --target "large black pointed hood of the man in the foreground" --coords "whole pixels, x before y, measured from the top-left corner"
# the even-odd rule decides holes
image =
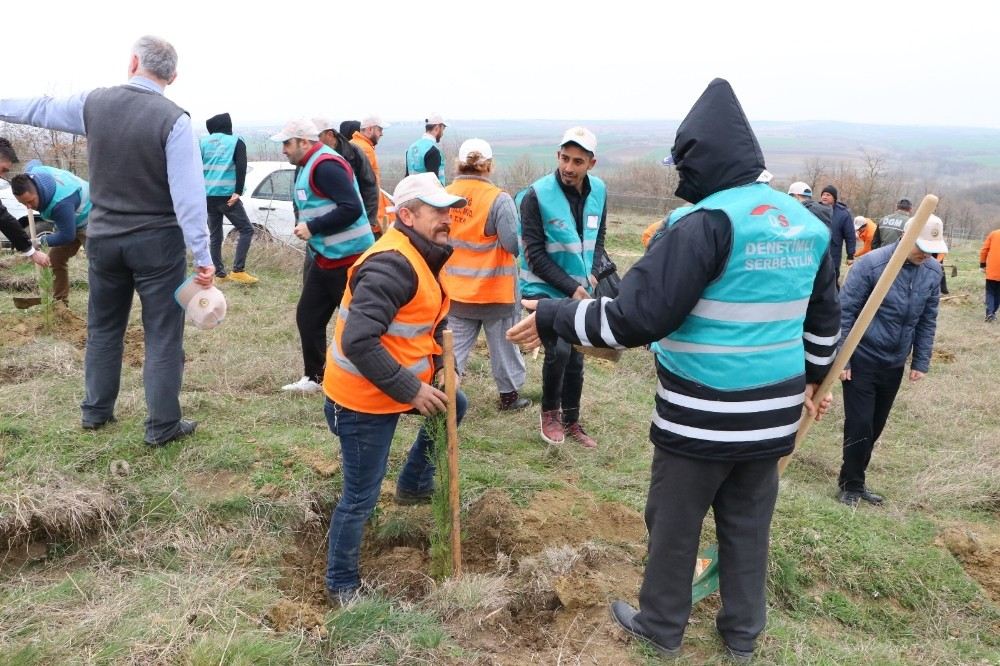
[[[691,107],[670,155],[677,167],[676,194],[691,203],[756,182],[765,169],[757,137],[725,79],[709,83]]]

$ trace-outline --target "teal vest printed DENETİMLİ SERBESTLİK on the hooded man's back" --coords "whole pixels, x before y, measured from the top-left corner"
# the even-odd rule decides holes
[[[732,251],[680,328],[652,345],[659,362],[721,391],[798,377],[805,372],[806,308],[830,244],[826,225],[763,183],[716,192],[685,213],[695,210],[729,217]]]

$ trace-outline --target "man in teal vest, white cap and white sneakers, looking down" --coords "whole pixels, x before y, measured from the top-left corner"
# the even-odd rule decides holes
[[[295,323],[305,372],[282,386],[292,393],[319,393],[326,365],[326,329],[347,288],[347,269],[375,242],[354,171],[337,151],[319,141],[316,124],[292,120],[271,137],[298,167],[292,199],[298,210],[295,235],[310,259]]]

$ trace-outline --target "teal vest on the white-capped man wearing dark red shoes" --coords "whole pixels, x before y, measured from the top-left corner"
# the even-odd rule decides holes
[[[569,201],[563,194],[562,187],[556,175],[550,173],[542,176],[531,185],[538,197],[538,213],[545,229],[545,252],[566,274],[577,281],[581,287],[592,291],[590,286],[590,270],[594,267],[594,249],[597,246],[597,234],[601,227],[601,214],[607,201],[607,187],[604,181],[595,176],[590,178],[590,194],[583,204],[583,238],[576,232],[576,218],[569,207]],[[517,206],[527,190],[517,195]],[[518,236],[524,238],[524,233],[518,223]],[[523,240],[522,240],[523,244]],[[527,253],[521,248],[519,286],[523,294],[547,294],[553,298],[565,298],[562,293],[545,280],[531,272]]]

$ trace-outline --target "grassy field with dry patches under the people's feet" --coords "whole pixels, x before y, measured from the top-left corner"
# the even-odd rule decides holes
[[[612,215],[620,267],[653,218]],[[886,506],[833,500],[841,412],[814,427],[781,482],[761,664],[1000,664],[1000,328],[983,323],[972,246],[942,304],[935,362],[903,387],[869,470]],[[633,603],[655,375],[648,353],[588,360],[584,419],[596,451],[547,448],[537,409],[499,414],[485,348],[470,362],[460,432],[467,575],[427,574],[429,507],[392,482],[419,421],[406,417],[362,554],[366,598],[323,604],[338,444],[301,374],[301,256],[255,245],[255,287],[223,285],[226,322],[189,328],[181,396],[197,433],[142,444],[141,335],[130,332],[118,423],[79,427],[82,320],[15,311],[24,265],[0,281],[0,663],[651,664],[607,619]],[[85,262],[71,310],[85,313]],[[137,307],[138,309],[138,307]],[[133,319],[137,317],[133,315]],[[541,358],[524,394],[540,397]],[[706,521],[706,543],[713,541]],[[0,553],[4,550],[0,549]],[[721,663],[699,604],[684,664]]]

